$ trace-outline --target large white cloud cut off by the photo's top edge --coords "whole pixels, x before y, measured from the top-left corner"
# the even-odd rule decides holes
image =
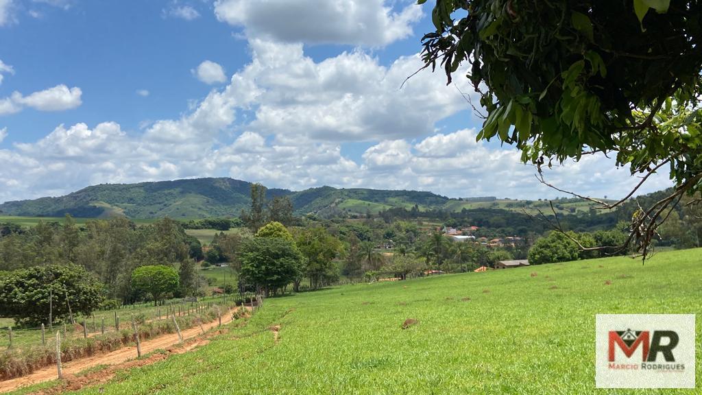
[[[412,34],[422,8],[393,11],[384,0],[218,0],[218,20],[249,37],[310,44],[386,46]]]

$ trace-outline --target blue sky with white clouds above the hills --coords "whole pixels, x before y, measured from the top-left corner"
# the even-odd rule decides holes
[[[467,81],[427,71],[399,89],[421,65],[429,7],[0,0],[0,201],[197,176],[557,196],[515,150],[475,143],[479,119],[458,93],[471,93]],[[613,164],[595,157],[547,177],[623,195],[635,180]]]

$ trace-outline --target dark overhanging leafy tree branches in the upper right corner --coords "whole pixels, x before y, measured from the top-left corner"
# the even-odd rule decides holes
[[[669,167],[676,189],[635,214],[635,250],[647,252],[667,207],[698,196],[699,1],[437,0],[432,22],[425,67],[449,83],[467,73],[487,111],[477,140],[515,145],[540,171],[594,153],[644,179]]]

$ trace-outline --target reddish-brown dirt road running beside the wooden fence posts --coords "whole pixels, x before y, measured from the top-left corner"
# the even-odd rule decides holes
[[[232,311],[222,315],[222,325],[232,322]],[[214,320],[211,323],[206,323],[202,325],[205,331],[212,328],[217,328],[219,325],[218,320]],[[187,339],[191,339],[201,335],[201,330],[198,325],[194,327],[181,331],[183,334],[183,339],[187,342]],[[185,351],[192,349],[202,344],[202,342],[187,342],[185,346]],[[169,349],[171,346],[178,344],[178,334],[169,334],[156,337],[154,339],[142,340],[141,342],[141,353],[142,355],[148,354],[157,349]],[[180,350],[183,351],[183,350]],[[175,354],[179,354],[176,352]],[[70,361],[62,364],[62,370],[64,377],[72,377],[77,373],[92,368],[98,365],[118,365],[124,363],[131,359],[137,357],[136,347],[123,347],[121,349],[109,352],[107,354],[100,354],[91,356],[88,358],[77,359],[76,361]],[[37,384],[39,382],[45,382],[49,380],[55,380],[57,378],[56,365],[51,365],[47,368],[43,368],[35,371],[32,374],[16,377],[11,380],[5,380],[0,382],[0,393],[13,391],[19,387],[25,387],[31,384]]]

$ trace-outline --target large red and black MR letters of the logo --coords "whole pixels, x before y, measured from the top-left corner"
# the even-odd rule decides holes
[[[666,362],[675,362],[673,349],[677,347],[678,342],[680,337],[673,330],[654,330],[653,336],[647,330],[610,330],[609,361],[615,361],[616,347],[619,347],[627,358],[631,358],[634,352],[642,347],[642,362],[656,362],[658,354],[661,354]]]

